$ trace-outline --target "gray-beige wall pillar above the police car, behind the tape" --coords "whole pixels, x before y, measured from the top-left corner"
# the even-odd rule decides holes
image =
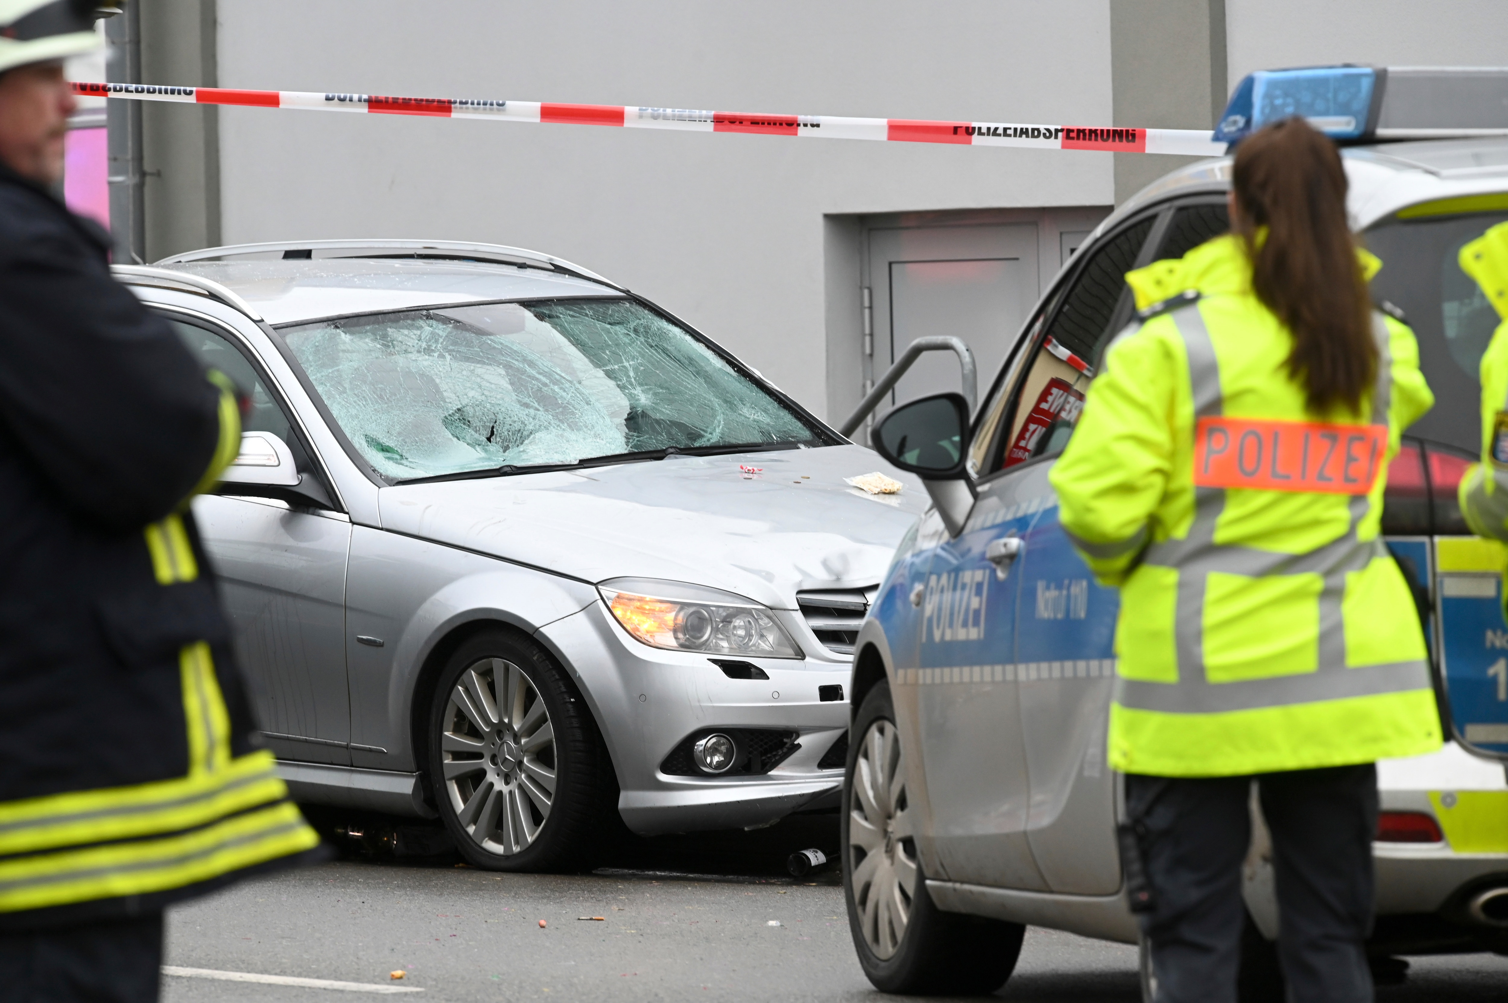
[[[1226,104],[1224,0],[1110,0],[1114,125],[1214,128]],[[1116,205],[1194,157],[1113,154]]]

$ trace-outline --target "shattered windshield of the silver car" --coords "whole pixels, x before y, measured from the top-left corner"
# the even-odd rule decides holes
[[[282,335],[345,436],[394,480],[823,445],[716,351],[629,300],[403,311]]]

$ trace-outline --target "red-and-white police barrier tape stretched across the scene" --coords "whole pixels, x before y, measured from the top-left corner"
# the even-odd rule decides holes
[[[617,125],[626,128],[665,128],[683,133],[756,133],[762,136],[799,136],[808,139],[869,139],[893,143],[1093,149],[1136,154],[1185,154],[1194,157],[1217,157],[1226,149],[1224,143],[1217,143],[1211,139],[1211,133],[1185,128],[1086,128],[1078,125],[941,122],[926,119],[844,118],[835,115],[745,115],[740,112],[654,109],[621,104],[552,104],[549,101],[499,101],[493,98],[395,98],[375,94],[166,87],[145,83],[75,83],[74,94],[97,98],[229,104],[255,109],[419,115],[504,122],[553,122],[559,125]]]

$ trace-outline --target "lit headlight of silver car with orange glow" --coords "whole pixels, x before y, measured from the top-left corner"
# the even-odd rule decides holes
[[[801,658],[769,606],[718,588],[651,578],[597,584],[612,617],[638,641],[673,652]]]

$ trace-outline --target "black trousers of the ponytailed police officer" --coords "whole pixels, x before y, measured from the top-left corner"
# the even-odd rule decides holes
[[[1377,833],[1371,763],[1258,777],[1126,775],[1126,813],[1140,827],[1155,894],[1139,920],[1158,1003],[1235,1003],[1253,780],[1273,834],[1277,955],[1289,1003],[1371,1003],[1363,947]]]

